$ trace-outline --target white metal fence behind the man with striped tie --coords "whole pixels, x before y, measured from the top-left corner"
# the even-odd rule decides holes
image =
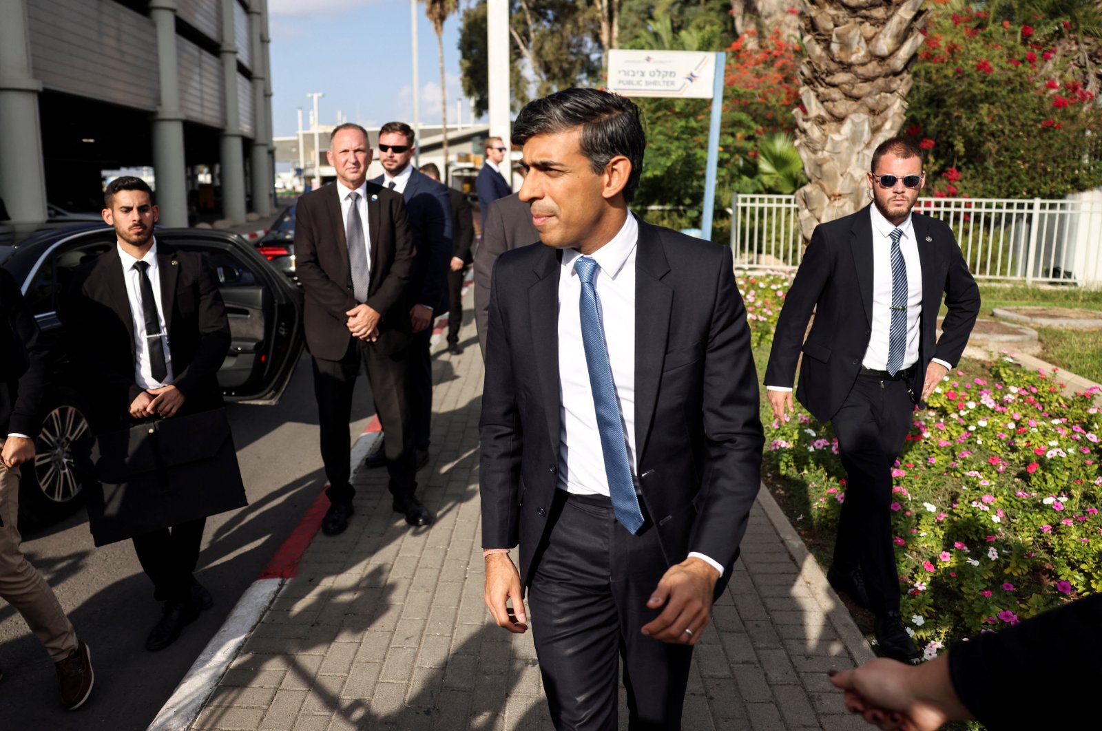
[[[795,269],[803,253],[795,196],[735,195],[731,247],[747,269]],[[1102,190],[1060,200],[920,198],[953,230],[976,279],[1102,286]]]

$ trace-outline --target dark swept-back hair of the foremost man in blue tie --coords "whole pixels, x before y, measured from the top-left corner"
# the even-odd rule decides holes
[[[631,162],[631,174],[624,186],[624,200],[631,203],[647,138],[639,120],[639,108],[627,97],[598,89],[563,89],[536,99],[517,114],[512,123],[512,143],[523,145],[538,134],[555,134],[581,128],[581,151],[590,170],[601,173],[608,162],[624,155]]]

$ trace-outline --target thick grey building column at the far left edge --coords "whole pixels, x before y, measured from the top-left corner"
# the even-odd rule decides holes
[[[24,0],[0,0],[0,198],[17,239],[46,220],[39,92]]]

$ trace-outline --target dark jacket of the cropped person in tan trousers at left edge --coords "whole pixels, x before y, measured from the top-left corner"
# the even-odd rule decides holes
[[[0,269],[0,441],[39,434],[45,349],[14,277]]]

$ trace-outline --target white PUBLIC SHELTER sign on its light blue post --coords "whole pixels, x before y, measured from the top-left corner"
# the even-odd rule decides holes
[[[727,54],[704,51],[608,52],[608,90],[626,97],[711,99],[707,165],[704,171],[704,216],[701,236],[712,238],[715,177],[720,154],[720,118],[723,111],[723,68]]]

